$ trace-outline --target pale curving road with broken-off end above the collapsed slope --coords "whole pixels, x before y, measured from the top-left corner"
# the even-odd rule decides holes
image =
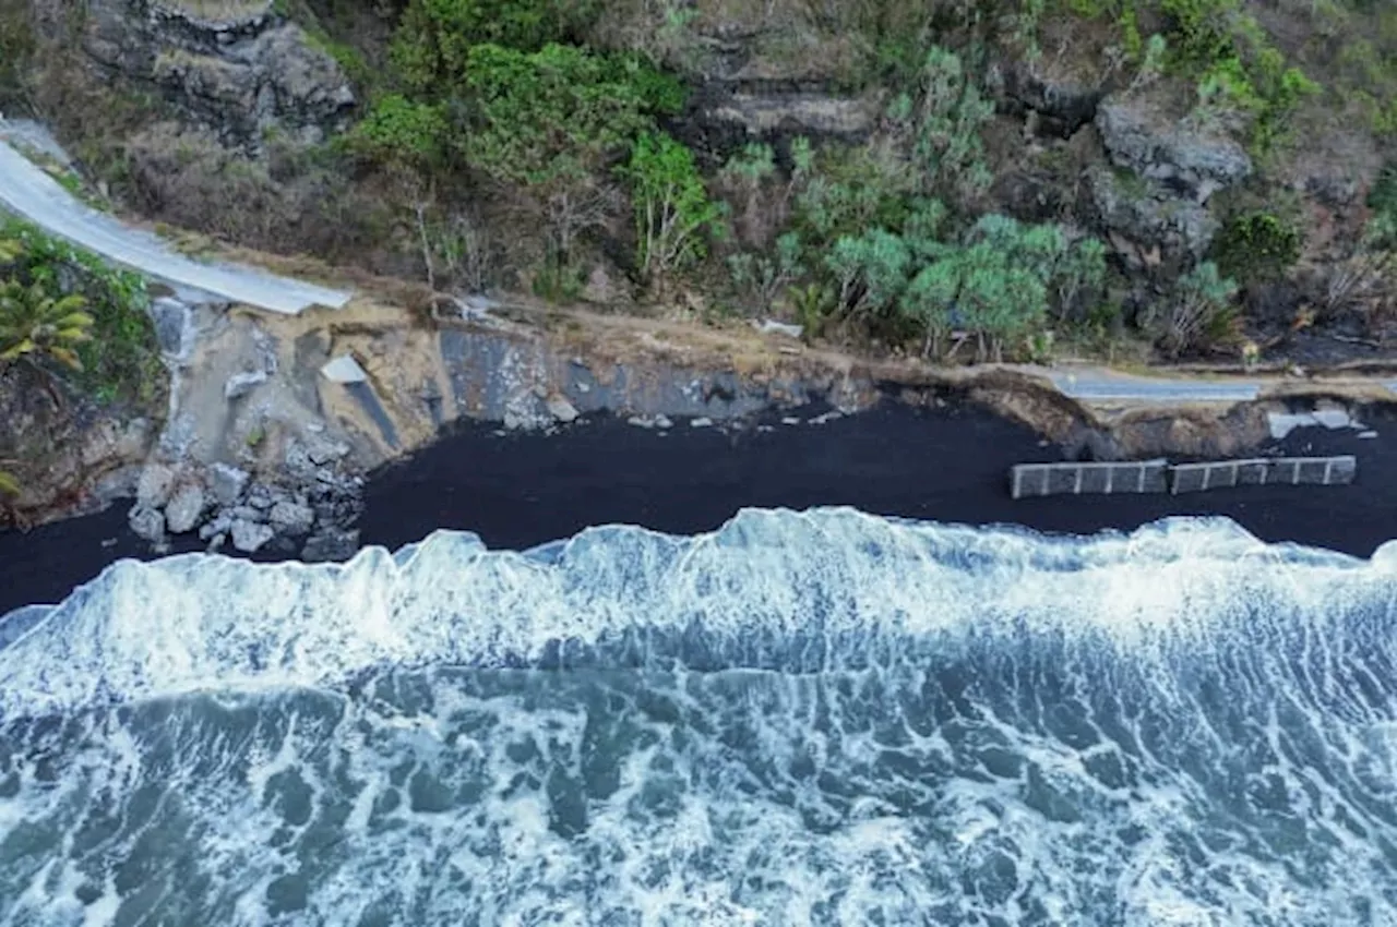
[[[85,205],[4,141],[0,141],[0,208],[115,264],[217,302],[295,316],[312,306],[341,309],[352,296],[249,267],[183,257],[156,236]]]

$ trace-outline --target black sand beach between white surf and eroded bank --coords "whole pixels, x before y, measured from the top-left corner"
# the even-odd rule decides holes
[[[802,410],[807,419],[814,412]],[[1056,533],[1130,531],[1166,515],[1227,515],[1256,536],[1368,557],[1397,537],[1397,415],[1356,430],[1302,429],[1287,454],[1356,454],[1345,487],[1245,487],[1193,496],[1011,500],[1010,465],[1056,461],[1025,427],[972,408],[884,405],[823,424],[668,433],[616,419],[559,434],[496,434],[474,424],[367,486],[365,544],[400,547],[436,528],[474,531],[492,547],[529,547],[588,525],[638,524],[673,533],[721,525],[743,507],[854,505],[947,522],[1017,522]],[[197,550],[197,540],[187,543]],[[0,533],[0,614],[57,602],[122,557],[149,558],[126,507]],[[277,557],[258,557],[275,560]]]

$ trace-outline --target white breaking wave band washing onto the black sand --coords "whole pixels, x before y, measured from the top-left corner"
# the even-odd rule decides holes
[[[594,528],[525,553],[441,531],[346,564],[186,554],[113,564],[0,621],[22,628],[0,637],[0,719],[384,666],[809,673],[1007,638],[1337,663],[1391,637],[1394,577],[1397,543],[1365,561],[1228,519],[1053,537],[848,508],[747,510],[694,537]]]

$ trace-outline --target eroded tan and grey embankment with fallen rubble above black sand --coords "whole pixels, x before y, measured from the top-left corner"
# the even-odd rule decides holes
[[[968,402],[1027,424],[1066,459],[1227,458],[1271,438],[1280,412],[1331,406],[1356,420],[1383,394],[1361,380],[1273,380],[1245,403],[1085,405],[1044,370],[861,360],[736,325],[535,306],[409,313],[367,297],[295,317],[168,299],[158,311],[172,401],[144,469],[127,470],[131,526],[156,544],[197,533],[215,549],[310,558],[358,546],[365,475],[458,422],[548,430],[606,412],[665,429],[812,402],[834,415]],[[351,381],[326,376],[344,359]],[[71,512],[43,490],[28,491],[29,519]]]

